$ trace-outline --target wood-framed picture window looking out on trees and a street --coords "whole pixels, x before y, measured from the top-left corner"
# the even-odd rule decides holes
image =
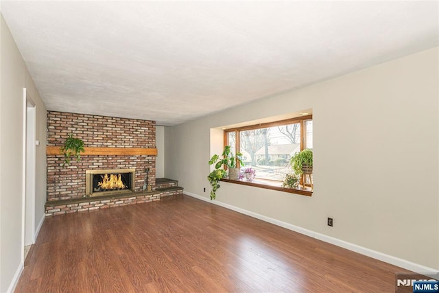
[[[280,187],[285,174],[294,173],[292,156],[313,148],[312,115],[224,130],[224,145],[243,154],[245,167],[256,170],[257,183]]]

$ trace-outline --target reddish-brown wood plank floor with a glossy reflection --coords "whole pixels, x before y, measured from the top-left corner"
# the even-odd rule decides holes
[[[407,272],[189,196],[47,218],[16,292],[394,292]]]

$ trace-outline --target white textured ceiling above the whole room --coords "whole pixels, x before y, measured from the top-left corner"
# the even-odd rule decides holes
[[[175,125],[439,45],[438,1],[1,1],[47,109]]]

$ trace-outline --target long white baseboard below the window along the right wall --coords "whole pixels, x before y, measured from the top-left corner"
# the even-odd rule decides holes
[[[372,250],[369,248],[365,248],[365,247],[359,246],[357,244],[346,242],[342,239],[337,239],[337,238],[334,238],[334,237],[331,237],[328,235],[316,233],[314,231],[311,231],[311,230],[308,230],[305,228],[301,228],[299,226],[295,226],[295,225],[289,224],[287,222],[282,222],[282,221],[276,220],[274,218],[270,218],[270,217],[267,217],[265,215],[261,215],[259,213],[254,213],[254,212],[248,211],[246,209],[241,209],[239,207],[235,207],[233,205],[226,204],[224,202],[219,202],[217,200],[210,200],[209,198],[205,198],[204,196],[199,196],[198,194],[192,194],[191,192],[187,192],[187,191],[183,191],[183,194],[186,194],[188,196],[192,196],[193,198],[198,198],[199,200],[204,200],[205,202],[217,204],[220,207],[225,207],[226,209],[231,209],[233,211],[237,211],[238,213],[243,213],[244,215],[250,215],[250,217],[252,217],[252,218],[257,218],[259,220],[269,222],[269,223],[274,224],[276,226],[281,226],[283,228],[287,228],[288,230],[292,230],[292,231],[295,231],[297,233],[322,240],[323,242],[327,242],[327,243],[333,244],[335,246],[340,246],[342,248],[346,248],[348,250],[355,251],[355,253],[359,253],[361,255],[366,255],[368,257],[372,257],[374,259],[378,259],[380,261],[390,263],[394,266],[399,266],[400,268],[405,268],[406,270],[411,270],[412,272],[417,272],[418,274],[425,274],[427,276],[430,276],[430,275],[437,276],[439,274],[439,271],[435,270],[434,268],[428,268],[428,267],[422,266],[418,263],[413,263],[412,261],[407,261],[405,259],[393,257],[392,255],[386,255],[385,253],[380,253],[378,251],[375,251],[375,250]]]

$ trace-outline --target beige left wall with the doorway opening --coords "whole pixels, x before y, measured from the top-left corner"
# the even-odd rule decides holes
[[[36,148],[35,229],[44,219],[46,200],[46,109],[2,15],[0,30],[0,292],[6,292],[23,266],[23,88],[36,103],[36,139],[40,141]]]

